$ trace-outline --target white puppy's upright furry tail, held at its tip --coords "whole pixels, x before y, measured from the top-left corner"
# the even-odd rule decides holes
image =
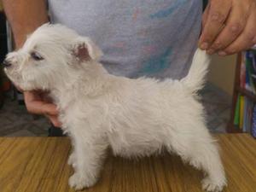
[[[210,61],[210,56],[205,50],[197,49],[195,51],[189,73],[181,79],[191,92],[196,93],[205,84]]]

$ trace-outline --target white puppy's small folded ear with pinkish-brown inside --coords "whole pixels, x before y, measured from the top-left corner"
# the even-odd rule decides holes
[[[90,38],[79,37],[73,44],[73,55],[79,61],[98,61],[103,53]]]

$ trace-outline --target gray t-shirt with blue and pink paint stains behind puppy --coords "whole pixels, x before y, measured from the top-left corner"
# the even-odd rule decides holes
[[[49,0],[52,23],[92,38],[109,73],[180,79],[201,30],[202,0]]]

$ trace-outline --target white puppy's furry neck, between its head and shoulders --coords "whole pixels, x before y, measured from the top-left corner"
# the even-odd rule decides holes
[[[61,77],[61,81],[56,83],[50,90],[50,96],[59,108],[65,108],[68,102],[75,100],[80,96],[96,96],[101,94],[108,79],[111,75],[108,74],[106,69],[100,63],[90,63],[82,65],[80,70],[70,70],[67,77]]]

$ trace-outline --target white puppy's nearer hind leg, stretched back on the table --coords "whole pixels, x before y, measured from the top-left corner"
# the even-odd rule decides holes
[[[226,179],[217,143],[213,141],[207,128],[203,127],[197,133],[195,130],[175,131],[175,135],[166,143],[166,147],[181,156],[183,161],[207,174],[207,177],[202,180],[203,189],[222,191],[226,185]]]

